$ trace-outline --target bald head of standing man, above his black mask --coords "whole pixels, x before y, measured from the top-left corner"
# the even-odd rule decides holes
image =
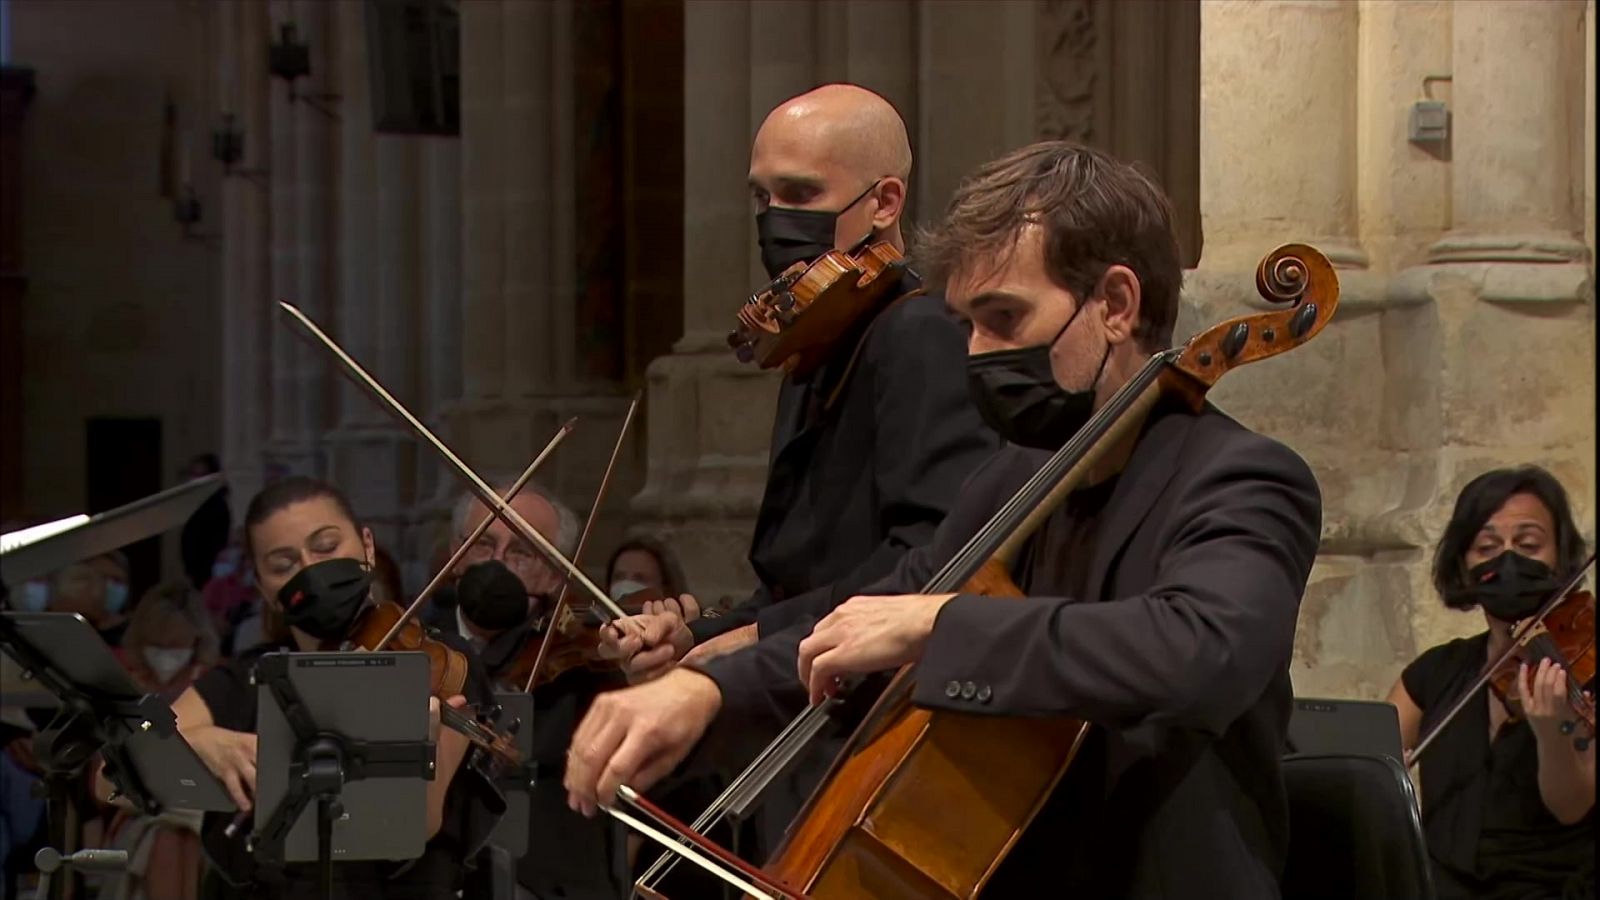
[[[856,85],[822,85],[762,122],[750,147],[750,192],[757,211],[838,213],[835,247],[869,231],[901,245],[910,165],[906,122],[890,101]]]

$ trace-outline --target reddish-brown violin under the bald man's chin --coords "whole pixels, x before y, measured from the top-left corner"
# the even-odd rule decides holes
[[[806,375],[883,303],[904,271],[904,256],[885,242],[829,250],[811,264],[795,263],[744,301],[728,346],[739,362]]]

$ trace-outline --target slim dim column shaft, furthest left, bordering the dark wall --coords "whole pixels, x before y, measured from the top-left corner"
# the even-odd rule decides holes
[[[267,163],[267,29],[264,3],[227,3],[218,10],[221,109],[245,133],[243,170]],[[234,516],[266,479],[266,440],[272,426],[269,394],[267,202],[256,178],[222,179],[222,463],[232,485]]]

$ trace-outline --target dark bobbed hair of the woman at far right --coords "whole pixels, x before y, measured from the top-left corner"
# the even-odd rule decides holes
[[[1467,586],[1467,549],[1483,522],[1518,493],[1534,496],[1550,511],[1555,522],[1555,575],[1566,578],[1582,565],[1589,548],[1573,519],[1573,506],[1562,482],[1539,466],[1491,469],[1461,488],[1450,524],[1434,548],[1434,589],[1450,609],[1466,610],[1475,605],[1453,599],[1461,597]]]

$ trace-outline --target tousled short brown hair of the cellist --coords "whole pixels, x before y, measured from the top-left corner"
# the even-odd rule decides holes
[[[1147,349],[1165,349],[1178,322],[1184,269],[1173,205],[1138,165],[1072,141],[1013,151],[968,175],[944,221],[917,235],[915,263],[942,285],[981,259],[1003,266],[1029,224],[1043,227],[1051,280],[1086,299],[1106,269],[1139,277],[1139,327]]]

